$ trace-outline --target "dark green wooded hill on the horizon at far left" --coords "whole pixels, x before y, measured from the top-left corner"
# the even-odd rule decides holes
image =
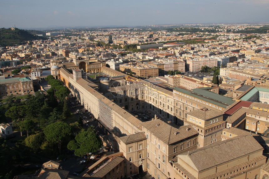
[[[15,46],[21,45],[22,42],[31,41],[31,40],[45,40],[45,37],[39,37],[37,35],[33,35],[25,30],[21,30],[18,28],[1,28],[0,29],[0,45],[2,47],[6,46]]]

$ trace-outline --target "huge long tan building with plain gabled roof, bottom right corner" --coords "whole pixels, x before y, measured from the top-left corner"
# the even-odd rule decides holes
[[[179,154],[171,163],[175,179],[259,178],[266,163],[262,151],[251,135],[237,136]]]

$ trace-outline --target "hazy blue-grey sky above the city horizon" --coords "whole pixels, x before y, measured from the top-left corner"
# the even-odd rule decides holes
[[[269,0],[1,0],[0,28],[269,22]]]

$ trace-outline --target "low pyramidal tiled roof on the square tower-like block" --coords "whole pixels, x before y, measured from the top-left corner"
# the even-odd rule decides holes
[[[188,115],[192,117],[196,117],[204,121],[212,119],[214,117],[221,116],[223,114],[224,114],[223,112],[219,112],[219,111],[216,111],[213,109],[207,109],[207,108],[201,108],[201,109],[188,112]]]

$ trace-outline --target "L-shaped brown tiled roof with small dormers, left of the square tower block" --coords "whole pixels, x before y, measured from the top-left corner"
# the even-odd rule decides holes
[[[141,125],[167,145],[180,142],[185,138],[198,134],[198,132],[191,125],[177,128],[175,125],[166,123],[160,119],[142,122]]]

